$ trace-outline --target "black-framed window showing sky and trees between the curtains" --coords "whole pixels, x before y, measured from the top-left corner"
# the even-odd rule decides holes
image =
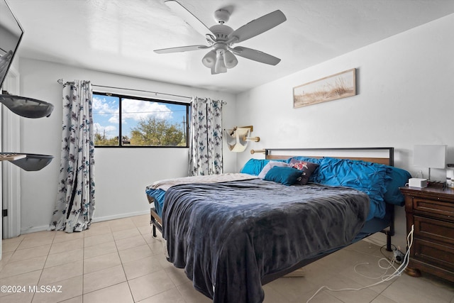
[[[94,145],[188,147],[189,104],[93,92]]]

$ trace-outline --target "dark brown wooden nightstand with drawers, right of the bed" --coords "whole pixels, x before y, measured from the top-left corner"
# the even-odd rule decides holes
[[[454,189],[401,187],[406,231],[414,241],[406,273],[428,272],[454,282]]]

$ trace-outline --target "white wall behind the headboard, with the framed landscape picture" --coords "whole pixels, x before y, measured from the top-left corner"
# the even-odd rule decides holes
[[[445,144],[454,162],[453,28],[454,14],[239,94],[237,124],[254,125],[254,149],[391,146],[395,166],[416,175],[413,146]],[[293,109],[293,87],[354,67],[357,96]],[[238,155],[237,168],[249,158]],[[397,212],[394,243],[405,248]]]

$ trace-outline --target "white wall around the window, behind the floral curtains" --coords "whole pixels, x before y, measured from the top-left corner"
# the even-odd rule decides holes
[[[112,75],[23,57],[19,71],[21,95],[48,101],[55,106],[49,118],[21,118],[21,151],[55,155],[55,159],[43,170],[21,172],[22,233],[48,228],[55,206],[62,125],[62,85],[57,83],[57,79],[87,79],[96,85],[222,99],[227,102],[223,107],[223,123],[226,127],[233,124],[231,117],[236,110],[235,97],[223,92]],[[94,220],[148,213],[150,206],[145,197],[145,186],[156,180],[187,175],[187,155],[187,148],[95,148]],[[236,156],[224,153],[224,163],[226,172],[233,171]]]

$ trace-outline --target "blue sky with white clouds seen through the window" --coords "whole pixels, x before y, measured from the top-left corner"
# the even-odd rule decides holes
[[[118,136],[119,126],[119,98],[104,95],[93,95],[93,122],[94,132],[104,134],[106,138]],[[170,123],[178,123],[183,128],[183,119],[186,121],[186,106],[165,104],[154,101],[137,99],[123,99],[122,101],[122,136],[131,138],[131,128],[137,126],[140,119],[150,117],[166,119]]]

